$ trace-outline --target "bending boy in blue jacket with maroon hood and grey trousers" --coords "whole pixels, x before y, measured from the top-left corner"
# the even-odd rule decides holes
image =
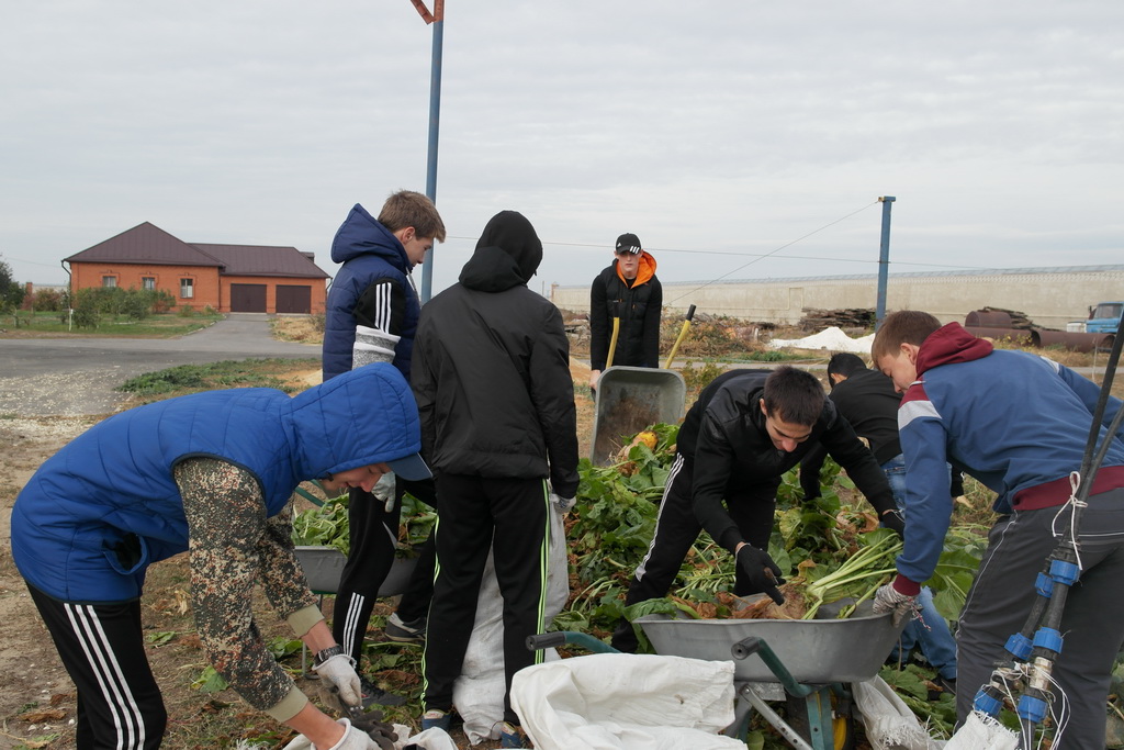
[[[876,612],[910,616],[936,568],[953,509],[949,463],[996,493],[999,515],[957,631],[960,722],[996,663],[1013,660],[1005,647],[1026,624],[1039,575],[1075,518],[1076,482],[1093,479],[1077,530],[1079,577],[1057,626],[1064,649],[1051,689],[1071,713],[1053,747],[1105,747],[1105,701],[1124,642],[1124,427],[1107,432],[1121,400],[1109,397],[1094,425],[1096,383],[1043,356],[995,350],[921,310],[886,316],[871,358],[905,394],[898,436],[909,522],[897,577],[876,594]],[[1095,478],[1078,477],[1094,427],[1107,452]]]

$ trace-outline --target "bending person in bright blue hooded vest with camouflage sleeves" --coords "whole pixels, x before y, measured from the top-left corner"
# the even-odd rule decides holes
[[[158,748],[167,720],[145,657],[140,594],[154,562],[189,551],[208,660],[259,711],[316,748],[369,750],[297,688],[254,623],[262,584],[346,704],[354,662],[332,636],[293,553],[289,498],[318,479],[370,489],[387,471],[424,479],[417,405],[372,364],[289,397],[271,388],[181,396],[101,422],[39,467],[16,498],[16,567],[78,688],[78,747]]]

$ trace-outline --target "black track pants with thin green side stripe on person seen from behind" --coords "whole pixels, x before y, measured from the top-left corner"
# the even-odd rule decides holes
[[[436,480],[437,570],[426,627],[423,702],[426,710],[448,711],[453,704],[453,683],[461,674],[480,579],[493,549],[496,580],[504,595],[504,713],[506,721],[518,723],[510,704],[511,677],[542,661],[542,651],[528,651],[526,640],[543,630],[550,539],[546,484],[460,475],[438,475]]]

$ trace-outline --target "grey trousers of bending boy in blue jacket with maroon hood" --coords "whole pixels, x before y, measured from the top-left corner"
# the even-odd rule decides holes
[[[1059,506],[1016,512],[991,527],[957,633],[960,722],[971,713],[995,662],[1006,660],[1004,644],[1022,630],[1037,596],[1035,578],[1070,519],[1070,508]],[[1081,575],[1066,602],[1064,641],[1053,669],[1058,686],[1052,711],[1060,712],[1064,699],[1071,712],[1055,749],[1105,747],[1109,675],[1124,641],[1124,489],[1089,498],[1080,555]]]

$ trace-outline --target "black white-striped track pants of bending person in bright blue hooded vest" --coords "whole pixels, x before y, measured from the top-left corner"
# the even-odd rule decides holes
[[[78,750],[158,748],[167,713],[144,652],[140,603],[73,604],[27,588],[78,688]]]

